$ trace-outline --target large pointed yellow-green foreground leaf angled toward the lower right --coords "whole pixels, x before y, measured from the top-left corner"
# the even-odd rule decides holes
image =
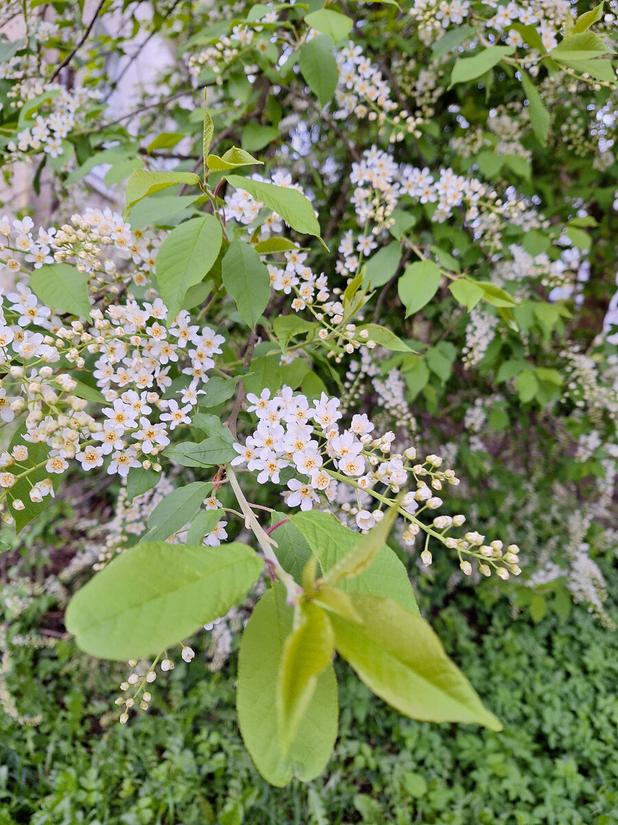
[[[331,613],[335,648],[373,693],[411,719],[502,730],[420,615],[387,598],[350,598],[362,623]]]

